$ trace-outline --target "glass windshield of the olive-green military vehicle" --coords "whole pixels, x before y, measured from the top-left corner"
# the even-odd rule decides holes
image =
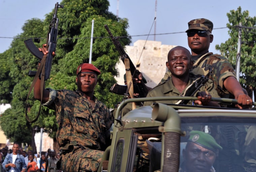
[[[186,168],[185,164],[187,163],[187,168],[197,168],[196,172],[200,171],[200,162],[204,164],[205,168],[207,163],[210,164],[210,158],[201,156],[198,152],[193,153],[193,155],[185,153],[186,151],[189,152],[185,149],[188,140],[193,139],[189,133],[196,130],[210,134],[217,144],[222,147],[222,150],[217,149],[215,152],[215,161],[212,160],[212,170],[214,169],[216,172],[256,171],[255,118],[194,117],[181,118],[181,121],[182,131],[186,131],[187,134],[181,137],[180,167]],[[199,145],[203,146],[204,142],[208,141],[207,138],[204,139]],[[206,146],[203,147],[207,148],[211,145],[209,146],[206,143]],[[197,164],[197,167],[194,167],[192,163]]]

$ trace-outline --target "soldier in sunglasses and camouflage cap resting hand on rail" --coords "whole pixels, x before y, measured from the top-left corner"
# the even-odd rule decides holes
[[[213,42],[213,23],[205,18],[194,19],[188,22],[188,46],[191,49],[194,61],[192,72],[206,75],[210,66],[213,66],[212,80],[218,95],[228,98],[231,94],[237,100],[236,107],[242,109],[252,105],[252,99],[247,95],[241,84],[236,79],[236,73],[227,58],[219,54],[209,52],[210,44]],[[171,76],[168,70],[161,82],[168,80]]]

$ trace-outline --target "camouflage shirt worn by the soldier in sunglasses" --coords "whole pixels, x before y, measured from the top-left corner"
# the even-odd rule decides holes
[[[228,91],[225,89],[223,82],[229,76],[236,78],[235,70],[229,63],[227,58],[218,54],[205,53],[200,58],[194,61],[192,72],[195,74],[206,75],[209,72],[210,66],[213,67],[213,75],[210,77],[214,81],[215,89],[220,97],[228,97]],[[168,70],[161,82],[168,80],[171,72]],[[159,84],[160,84],[159,83]]]

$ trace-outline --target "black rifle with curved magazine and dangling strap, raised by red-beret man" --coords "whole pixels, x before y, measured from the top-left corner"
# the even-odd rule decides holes
[[[50,23],[49,26],[49,30],[48,30],[48,34],[47,34],[47,40],[46,40],[46,48],[48,49],[48,54],[44,55],[41,51],[38,50],[38,48],[35,46],[35,44],[33,43],[32,39],[28,39],[25,40],[24,43],[27,47],[27,49],[37,58],[39,58],[40,60],[40,65],[37,71],[29,71],[29,76],[35,76],[29,93],[28,93],[28,97],[26,100],[26,119],[29,122],[35,122],[38,117],[39,117],[39,112],[41,109],[41,104],[42,104],[42,92],[43,92],[43,85],[44,85],[44,80],[49,79],[50,77],[50,72],[51,72],[51,67],[52,67],[52,61],[53,61],[53,52],[55,52],[56,50],[56,43],[57,43],[57,35],[58,35],[58,23],[59,23],[59,19],[57,18],[57,10],[58,8],[63,8],[63,5],[60,5],[58,2],[55,4],[55,8],[54,8],[54,13],[53,13],[53,19]],[[41,92],[41,104],[40,104],[40,108],[38,111],[38,114],[36,116],[36,119],[30,121],[27,115],[27,101],[29,98],[29,95],[37,81],[37,79],[41,78],[41,84],[40,84],[40,92]]]

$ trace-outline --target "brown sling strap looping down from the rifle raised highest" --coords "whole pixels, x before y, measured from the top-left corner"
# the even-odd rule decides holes
[[[42,99],[43,99],[43,86],[44,86],[44,73],[45,73],[46,57],[47,57],[47,55],[43,56],[43,58],[41,60],[41,63],[39,65],[39,67],[38,67],[38,70],[36,72],[35,78],[34,78],[32,84],[31,84],[29,92],[28,92],[28,97],[27,97],[27,100],[26,100],[26,109],[25,109],[26,119],[27,119],[28,122],[35,122],[35,121],[37,121],[37,119],[39,117],[39,114],[40,114],[41,105],[42,105]],[[39,78],[40,73],[41,73],[41,82],[40,82],[41,102],[40,102],[40,107],[39,107],[38,113],[36,115],[36,118],[34,120],[30,121],[30,119],[28,117],[28,114],[27,114],[27,109],[28,109],[27,108],[27,101],[28,101],[30,93],[32,92],[32,89],[34,88],[34,85],[35,85],[37,79]]]

